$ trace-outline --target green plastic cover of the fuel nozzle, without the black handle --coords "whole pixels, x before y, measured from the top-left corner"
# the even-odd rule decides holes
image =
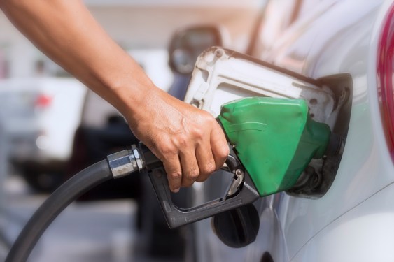
[[[293,187],[330,140],[330,127],[312,120],[302,99],[240,99],[223,105],[218,119],[260,196]]]

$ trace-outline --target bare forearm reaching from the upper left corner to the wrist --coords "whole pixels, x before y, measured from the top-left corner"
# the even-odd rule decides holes
[[[0,0],[0,7],[42,52],[120,111],[132,112],[129,105],[155,88],[80,0]]]

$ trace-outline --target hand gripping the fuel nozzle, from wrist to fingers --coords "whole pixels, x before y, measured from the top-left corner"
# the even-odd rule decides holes
[[[216,119],[157,89],[127,117],[134,135],[164,164],[171,191],[203,182],[223,166],[229,149]]]

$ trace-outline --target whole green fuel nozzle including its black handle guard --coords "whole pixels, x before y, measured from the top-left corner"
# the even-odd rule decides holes
[[[171,201],[162,166],[148,174],[170,228],[190,224],[253,203],[262,196],[286,191],[330,144],[330,127],[311,119],[302,99],[251,97],[222,106],[218,122],[230,146],[226,166],[232,173],[222,198],[192,208]],[[143,156],[150,156],[143,150]]]

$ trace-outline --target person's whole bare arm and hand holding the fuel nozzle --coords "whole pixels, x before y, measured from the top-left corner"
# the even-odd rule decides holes
[[[164,164],[171,191],[203,182],[229,149],[208,112],[157,88],[80,0],[0,0],[24,36],[125,116]]]

